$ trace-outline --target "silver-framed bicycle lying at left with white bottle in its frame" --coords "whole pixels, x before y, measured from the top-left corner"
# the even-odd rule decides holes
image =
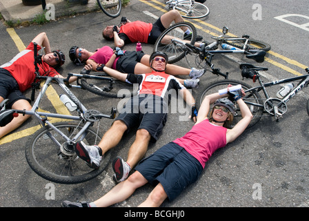
[[[8,99],[1,102],[0,126],[6,126],[18,114],[33,115],[41,124],[26,144],[26,160],[30,168],[46,180],[61,184],[77,184],[86,182],[101,174],[110,161],[110,152],[103,155],[99,169],[91,169],[85,161],[81,160],[75,153],[74,146],[79,140],[88,145],[98,144],[102,134],[99,132],[100,119],[114,119],[116,108],[112,108],[110,115],[103,114],[97,110],[86,108],[68,88],[68,78],[39,76],[37,70],[36,44],[34,44],[34,65],[37,75],[36,83],[33,84],[37,90],[39,82],[45,80],[39,95],[30,111],[6,109]],[[63,115],[58,113],[39,112],[39,104],[43,101],[46,90],[54,82],[63,90],[67,96],[66,106],[70,111],[76,111],[77,115]],[[32,91],[34,91],[32,90]],[[33,95],[33,93],[32,93]],[[72,108],[72,109],[70,109]],[[48,117],[74,120],[77,122],[58,122],[52,124]],[[97,129],[94,124],[97,123]]]

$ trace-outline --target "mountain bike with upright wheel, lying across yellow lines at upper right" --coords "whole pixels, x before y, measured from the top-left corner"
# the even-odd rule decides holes
[[[186,30],[192,32],[190,37],[184,35]],[[166,52],[170,64],[180,61],[188,54],[197,55],[195,62],[197,66],[200,66],[204,60],[211,61],[214,54],[226,53],[241,53],[257,62],[263,62],[266,51],[270,50],[269,44],[251,39],[248,35],[226,37],[227,27],[223,27],[222,33],[223,35],[219,37],[212,37],[215,41],[203,41],[204,44],[197,46],[195,26],[186,21],[175,23],[161,33],[155,42],[154,51]],[[217,50],[218,46],[221,46],[222,50]]]

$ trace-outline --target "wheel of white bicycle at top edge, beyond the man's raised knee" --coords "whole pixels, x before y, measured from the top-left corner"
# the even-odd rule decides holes
[[[181,17],[187,19],[200,19],[206,17],[210,12],[207,6],[196,1],[180,1],[175,9],[180,12]]]

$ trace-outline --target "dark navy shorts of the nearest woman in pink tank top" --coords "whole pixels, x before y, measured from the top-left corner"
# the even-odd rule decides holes
[[[152,185],[160,182],[172,201],[190,184],[197,181],[203,166],[183,147],[170,142],[141,160],[135,167]]]

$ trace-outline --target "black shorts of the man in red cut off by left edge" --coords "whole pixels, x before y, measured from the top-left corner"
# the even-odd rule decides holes
[[[4,68],[0,68],[0,96],[3,99],[10,99],[10,102],[6,105],[8,109],[12,108],[14,102],[19,99],[26,99],[29,102],[29,99],[19,90],[16,79]]]

